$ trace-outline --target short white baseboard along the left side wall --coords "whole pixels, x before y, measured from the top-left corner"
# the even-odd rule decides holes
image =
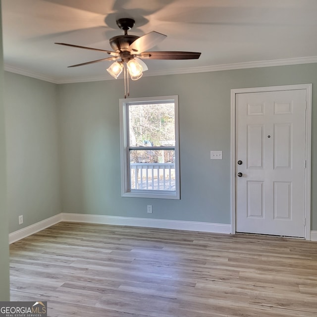
[[[30,236],[31,234],[37,233],[43,229],[53,226],[54,224],[62,221],[61,213],[54,215],[53,217],[47,218],[40,222],[34,223],[23,229],[14,231],[9,234],[9,243],[16,242],[23,238]]]

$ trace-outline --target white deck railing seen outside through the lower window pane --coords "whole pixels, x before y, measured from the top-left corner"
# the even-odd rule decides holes
[[[174,163],[130,163],[131,189],[175,190]]]

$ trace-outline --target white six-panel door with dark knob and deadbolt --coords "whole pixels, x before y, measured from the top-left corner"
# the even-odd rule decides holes
[[[306,90],[235,103],[236,231],[304,237]]]

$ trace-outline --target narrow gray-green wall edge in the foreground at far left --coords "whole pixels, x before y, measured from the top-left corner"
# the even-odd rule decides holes
[[[0,1],[1,8],[1,1]],[[0,12],[0,301],[9,300],[9,241],[6,211],[5,127],[3,106],[3,53]]]

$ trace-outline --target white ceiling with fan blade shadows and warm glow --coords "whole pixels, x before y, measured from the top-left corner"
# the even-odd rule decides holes
[[[317,0],[2,0],[5,69],[55,83],[110,79],[106,53],[123,34],[115,20],[134,18],[129,32],[167,35],[151,51],[201,52],[194,60],[146,60],[145,75],[317,61]]]

